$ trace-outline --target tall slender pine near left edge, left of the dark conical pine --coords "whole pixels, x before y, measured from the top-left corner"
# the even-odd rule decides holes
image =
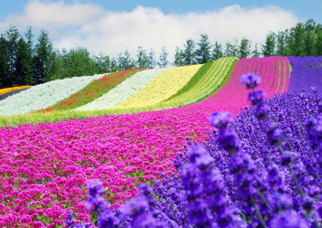
[[[17,46],[17,40],[19,38],[18,29],[16,26],[10,24],[9,29],[6,31],[6,40],[7,40],[7,49],[8,49],[8,57],[9,57],[9,74],[8,81],[11,81],[10,85],[14,83],[14,60],[15,60],[15,51]]]

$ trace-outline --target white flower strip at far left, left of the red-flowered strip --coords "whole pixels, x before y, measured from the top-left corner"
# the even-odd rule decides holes
[[[24,114],[45,109],[58,101],[68,98],[84,88],[88,83],[105,74],[65,78],[39,84],[0,101],[0,116]]]

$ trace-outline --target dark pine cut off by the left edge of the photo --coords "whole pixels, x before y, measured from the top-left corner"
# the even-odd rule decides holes
[[[6,40],[3,35],[0,37],[0,88],[9,87],[8,81],[9,60],[7,57]]]

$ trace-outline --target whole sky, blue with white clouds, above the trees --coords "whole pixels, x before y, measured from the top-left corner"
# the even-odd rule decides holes
[[[246,37],[260,47],[270,31],[309,18],[322,23],[322,0],[0,0],[0,6],[0,34],[9,24],[22,35],[32,25],[35,39],[45,29],[59,50],[84,46],[110,56],[128,49],[134,57],[139,45],[156,53],[166,46],[170,61],[176,46],[198,41],[201,33],[212,43]]]

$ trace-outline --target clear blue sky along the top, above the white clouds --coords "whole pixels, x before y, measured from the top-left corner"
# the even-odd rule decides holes
[[[8,13],[17,13],[21,12],[29,1],[27,0],[0,0],[0,18],[5,17]],[[112,11],[131,11],[136,5],[143,5],[146,7],[157,7],[160,8],[165,14],[169,13],[186,13],[190,11],[206,11],[206,10],[216,10],[223,8],[227,5],[238,4],[242,7],[261,7],[265,5],[276,5],[280,6],[283,9],[292,11],[296,16],[298,16],[301,21],[305,21],[308,18],[313,18],[318,23],[322,23],[322,0],[243,0],[243,1],[218,1],[218,0],[209,0],[209,1],[195,1],[195,0],[161,0],[161,1],[132,1],[132,0],[65,0],[66,3],[72,4],[74,2],[79,3],[94,3],[97,5],[103,6],[106,10]]]

